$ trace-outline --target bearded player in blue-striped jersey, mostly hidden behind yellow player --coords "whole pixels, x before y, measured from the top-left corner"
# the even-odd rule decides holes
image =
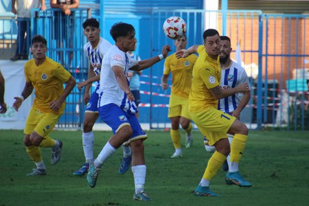
[[[250,85],[249,78],[246,71],[238,63],[234,62],[230,58],[232,51],[231,40],[227,36],[220,36],[221,49],[220,49],[220,66],[221,66],[221,79],[220,87],[221,89],[231,89],[238,87],[239,84],[246,82]],[[219,100],[218,109],[224,111],[230,115],[233,115],[237,119],[240,119],[240,112],[248,104],[250,100],[250,91],[244,93],[236,93],[227,98]],[[229,144],[233,139],[233,135],[229,135]],[[214,152],[216,148],[214,146],[209,146],[206,137],[204,137],[204,144],[207,152]],[[227,156],[227,161],[223,163],[223,170],[229,172],[238,171],[238,163],[231,163],[229,161],[231,155]],[[231,184],[229,179],[226,179],[227,184]]]

